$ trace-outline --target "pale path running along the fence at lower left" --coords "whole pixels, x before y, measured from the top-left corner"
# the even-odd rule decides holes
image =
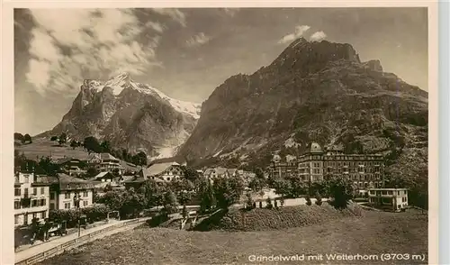
[[[148,219],[148,218],[142,218],[142,219],[139,219],[139,220],[144,220],[144,219]],[[103,230],[103,229],[105,229],[107,227],[110,227],[110,226],[113,226],[113,225],[116,225],[116,224],[125,223],[125,222],[128,222],[128,221],[130,221],[130,220],[121,220],[121,221],[118,221],[118,222],[112,222],[112,223],[109,223],[109,224],[96,226],[96,227],[93,227],[93,228],[90,228],[90,229],[81,230],[80,237],[82,237],[82,236],[84,236],[86,234],[94,233],[96,231],[101,231],[101,230]],[[122,231],[124,229],[128,229],[130,227],[134,227],[134,226],[137,226],[139,224],[142,224],[142,223],[130,224],[130,225],[127,225],[127,226],[122,226],[122,227],[120,227],[118,229],[113,229],[112,231],[108,231],[107,233],[102,233],[102,234],[95,235],[95,237],[93,237],[93,240],[94,239],[98,239],[98,238],[103,237],[103,236],[108,235],[108,234],[118,233],[118,231],[120,232],[120,231]],[[20,262],[22,260],[30,259],[31,257],[33,257],[35,255],[38,255],[38,254],[40,254],[42,252],[49,251],[49,250],[53,249],[54,247],[57,247],[58,245],[62,245],[64,243],[70,242],[72,240],[76,240],[76,238],[78,238],[78,233],[71,233],[71,234],[67,234],[66,236],[59,237],[59,238],[57,238],[55,240],[52,240],[52,241],[49,241],[49,242],[40,243],[39,245],[33,246],[33,247],[29,248],[29,249],[26,249],[26,250],[23,250],[23,251],[18,251],[18,252],[15,253],[15,262],[18,263],[18,262]]]

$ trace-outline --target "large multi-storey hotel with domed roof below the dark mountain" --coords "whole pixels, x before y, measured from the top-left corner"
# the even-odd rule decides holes
[[[295,161],[282,162],[274,156],[269,174],[275,178],[301,178],[304,182],[320,182],[324,176],[347,176],[359,189],[384,187],[384,160],[376,154],[344,154],[341,148],[322,150],[311,142]]]

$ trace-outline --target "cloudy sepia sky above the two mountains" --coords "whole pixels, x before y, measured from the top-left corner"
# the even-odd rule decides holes
[[[202,103],[300,37],[350,43],[428,91],[427,8],[15,9],[14,130],[51,129],[84,79],[120,72]]]

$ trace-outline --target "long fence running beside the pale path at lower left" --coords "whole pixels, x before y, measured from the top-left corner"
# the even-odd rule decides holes
[[[133,219],[133,220],[130,220],[130,221],[121,222],[119,224],[113,224],[113,225],[105,227],[105,228],[103,228],[101,230],[94,231],[93,233],[88,233],[88,234],[85,234],[85,235],[83,235],[81,237],[77,237],[74,240],[62,243],[62,244],[60,244],[60,245],[58,245],[58,246],[56,246],[54,248],[49,249],[48,251],[43,251],[43,252],[41,252],[39,254],[31,256],[28,259],[20,260],[18,262],[15,262],[15,265],[30,265],[30,264],[34,264],[34,263],[40,262],[42,260],[49,259],[50,257],[53,257],[53,256],[55,256],[57,254],[60,254],[60,253],[64,252],[64,251],[67,251],[67,250],[75,247],[76,245],[78,245],[80,243],[89,242],[95,236],[97,236],[97,235],[99,235],[101,233],[107,233],[109,231],[112,231],[112,230],[117,229],[117,228],[121,228],[123,226],[127,226],[127,225],[130,225],[130,224],[138,224],[138,223],[142,223],[142,222],[145,222],[145,221],[147,221],[147,218]]]

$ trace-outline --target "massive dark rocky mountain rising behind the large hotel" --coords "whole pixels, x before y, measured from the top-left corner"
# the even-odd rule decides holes
[[[295,155],[310,141],[382,153],[388,174],[426,180],[428,93],[379,60],[360,61],[349,44],[299,39],[269,66],[216,87],[179,155],[267,165],[275,151]]]

